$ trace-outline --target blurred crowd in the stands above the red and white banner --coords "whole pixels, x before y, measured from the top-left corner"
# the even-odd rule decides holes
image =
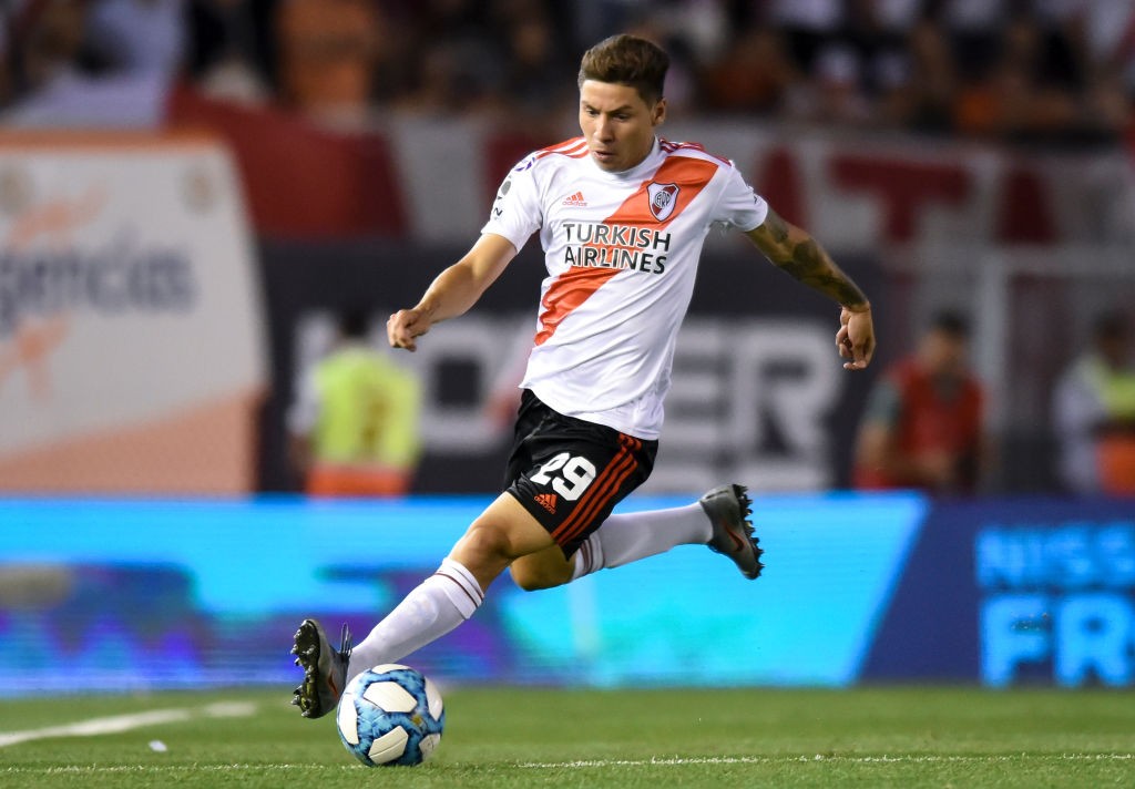
[[[190,84],[339,125],[573,112],[581,52],[664,43],[681,110],[1010,142],[1115,142],[1129,0],[6,0],[0,119],[159,123]]]

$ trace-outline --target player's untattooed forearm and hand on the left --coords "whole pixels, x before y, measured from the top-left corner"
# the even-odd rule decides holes
[[[504,236],[481,235],[461,260],[437,276],[415,307],[390,316],[386,321],[390,345],[414,351],[415,339],[434,324],[456,318],[476,304],[515,257],[516,247]]]

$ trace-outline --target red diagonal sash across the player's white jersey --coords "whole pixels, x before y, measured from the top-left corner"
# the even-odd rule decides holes
[[[654,174],[654,178],[644,181],[634,194],[624,200],[623,204],[603,223],[605,225],[644,225],[663,228],[674,221],[678,215],[690,204],[690,201],[709,183],[709,178],[716,170],[717,165],[703,159],[671,157],[662,163],[658,171]],[[650,213],[647,195],[647,186],[650,183],[676,184],[679,187],[678,203],[665,221],[658,221]],[[595,245],[594,243],[585,244],[585,246]],[[622,269],[573,266],[556,277],[540,302],[544,310],[540,312],[540,329],[536,333],[536,344],[546,343],[555,334],[564,318],[620,271]]]

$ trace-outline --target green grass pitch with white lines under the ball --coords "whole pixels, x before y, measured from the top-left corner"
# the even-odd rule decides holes
[[[1135,784],[1135,693],[444,690],[419,767],[367,769],[289,690],[0,699],[0,787]]]

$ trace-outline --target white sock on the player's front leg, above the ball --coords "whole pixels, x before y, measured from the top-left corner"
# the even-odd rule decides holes
[[[452,559],[418,585],[354,649],[347,681],[367,669],[397,663],[473,615],[485,593],[473,574]]]

